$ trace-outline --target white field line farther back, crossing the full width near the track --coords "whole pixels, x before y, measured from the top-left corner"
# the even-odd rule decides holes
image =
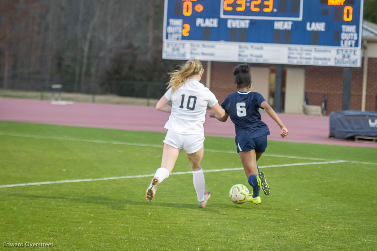
[[[105,140],[95,140],[95,139],[75,139],[75,138],[66,138],[66,137],[39,136],[39,135],[28,135],[28,134],[18,134],[18,133],[2,133],[2,132],[0,132],[0,135],[14,136],[14,137],[26,137],[26,138],[37,138],[37,139],[56,139],[56,140],[69,140],[69,141],[79,141],[79,142],[117,144],[117,145],[134,145],[134,146],[142,146],[142,147],[163,148],[162,144],[161,145],[139,144],[139,143],[130,143],[130,142],[122,142],[122,141],[105,141]],[[204,151],[205,152],[215,152],[215,153],[237,153],[236,151],[222,151],[222,150],[211,150],[211,149],[204,149]],[[307,158],[307,157],[276,155],[276,154],[264,154],[263,156],[278,157],[278,158],[290,158],[290,159],[309,159],[309,160],[317,160],[317,161],[334,161],[332,159]],[[338,160],[335,160],[335,161],[341,161],[341,162],[347,162],[347,163],[357,163],[357,164],[366,164],[366,165],[377,165],[377,163],[372,163],[372,162],[345,161],[345,160],[342,160],[342,159],[338,159]]]

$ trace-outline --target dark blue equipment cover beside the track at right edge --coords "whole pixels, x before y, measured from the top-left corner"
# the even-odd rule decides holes
[[[329,136],[342,139],[354,136],[377,137],[377,112],[332,112]]]

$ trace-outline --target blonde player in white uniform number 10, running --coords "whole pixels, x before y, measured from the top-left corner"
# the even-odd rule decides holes
[[[182,149],[189,158],[199,208],[204,208],[210,198],[210,192],[205,190],[201,167],[204,152],[203,123],[207,106],[219,117],[225,115],[225,110],[210,89],[199,82],[203,72],[202,63],[196,59],[187,61],[181,70],[170,72],[168,90],[156,104],[157,110],[168,112],[170,116],[164,126],[168,131],[163,141],[161,167],[156,170],[146,191],[149,202],[155,196],[157,186],[169,177]],[[169,101],[172,101],[172,106],[168,105]]]

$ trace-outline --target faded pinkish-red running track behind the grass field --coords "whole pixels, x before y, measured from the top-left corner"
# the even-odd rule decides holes
[[[271,135],[268,136],[270,140],[377,147],[377,143],[329,139],[328,116],[279,114],[279,117],[289,130],[289,135],[284,139],[280,137],[280,128],[276,122],[267,113],[262,113],[262,120],[270,128]],[[164,124],[168,118],[168,113],[160,112],[155,107],[93,103],[56,105],[51,104],[50,101],[0,99],[1,121],[166,132]],[[210,118],[209,112],[206,115],[204,132],[207,136],[234,137],[235,135],[230,119],[220,122]]]

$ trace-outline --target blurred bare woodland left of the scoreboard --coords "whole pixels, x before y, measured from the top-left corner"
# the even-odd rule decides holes
[[[164,0],[0,0],[4,86],[12,74],[71,79],[76,92],[86,91],[86,78],[150,78],[141,72],[162,60],[163,6]]]

